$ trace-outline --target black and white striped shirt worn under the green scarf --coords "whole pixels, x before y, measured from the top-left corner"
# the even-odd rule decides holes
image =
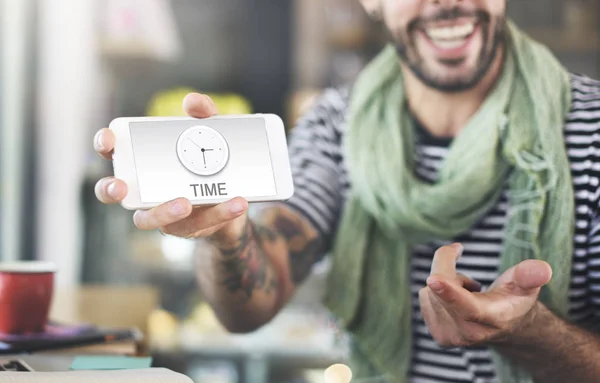
[[[587,328],[600,325],[600,81],[572,75],[573,102],[565,123],[565,145],[576,198],[576,231],[570,290],[571,318]],[[317,228],[331,243],[340,219],[350,180],[342,143],[347,129],[348,91],[329,89],[292,130],[290,158],[295,195],[286,203]],[[417,134],[416,173],[436,180],[451,140],[421,129]],[[464,245],[457,271],[488,287],[498,277],[498,260],[507,222],[508,199],[496,206],[468,233],[456,238]],[[411,381],[496,382],[488,349],[443,350],[431,337],[421,316],[418,291],[425,286],[437,241],[414,249],[413,363]]]

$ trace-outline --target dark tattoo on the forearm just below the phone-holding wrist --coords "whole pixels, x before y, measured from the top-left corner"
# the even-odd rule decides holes
[[[277,234],[248,221],[237,245],[220,250],[223,255],[220,260],[221,275],[224,276],[222,284],[227,291],[231,294],[241,292],[247,300],[259,289],[266,294],[277,291],[279,283],[275,273],[269,269],[268,258],[263,249],[263,241],[275,240]]]

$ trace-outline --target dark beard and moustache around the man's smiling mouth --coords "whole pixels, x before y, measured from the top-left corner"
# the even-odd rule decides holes
[[[446,79],[443,76],[437,76],[427,68],[427,64],[420,57],[415,44],[415,34],[426,22],[453,20],[459,17],[477,18],[479,28],[482,34],[482,48],[477,58],[475,69],[467,76],[458,78]],[[494,63],[499,47],[505,42],[506,38],[506,20],[504,17],[497,17],[495,20],[495,28],[492,31],[493,36],[490,42],[490,22],[491,17],[483,11],[466,12],[460,8],[445,9],[438,13],[435,17],[428,20],[416,19],[412,21],[407,29],[406,34],[402,37],[394,39],[396,50],[402,61],[408,68],[419,78],[425,85],[440,90],[442,92],[453,93],[469,90],[475,87],[481,79],[487,74],[488,70]],[[444,60],[441,61],[448,67],[457,67],[463,63],[463,60]]]

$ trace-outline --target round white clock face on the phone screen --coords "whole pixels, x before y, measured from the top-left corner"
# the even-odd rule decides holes
[[[227,165],[229,147],[216,130],[208,126],[194,126],[179,136],[177,155],[183,166],[192,173],[210,176]]]

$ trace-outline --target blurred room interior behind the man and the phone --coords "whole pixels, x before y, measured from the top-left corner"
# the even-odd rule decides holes
[[[0,0],[0,260],[58,264],[52,317],[136,326],[155,363],[196,382],[318,382],[343,361],[319,306],[327,265],[257,333],[202,303],[193,244],[140,232],[96,201],[92,137],[119,116],[180,115],[189,91],[288,130],[385,42],[355,0]],[[597,0],[509,2],[573,72],[600,77]]]

